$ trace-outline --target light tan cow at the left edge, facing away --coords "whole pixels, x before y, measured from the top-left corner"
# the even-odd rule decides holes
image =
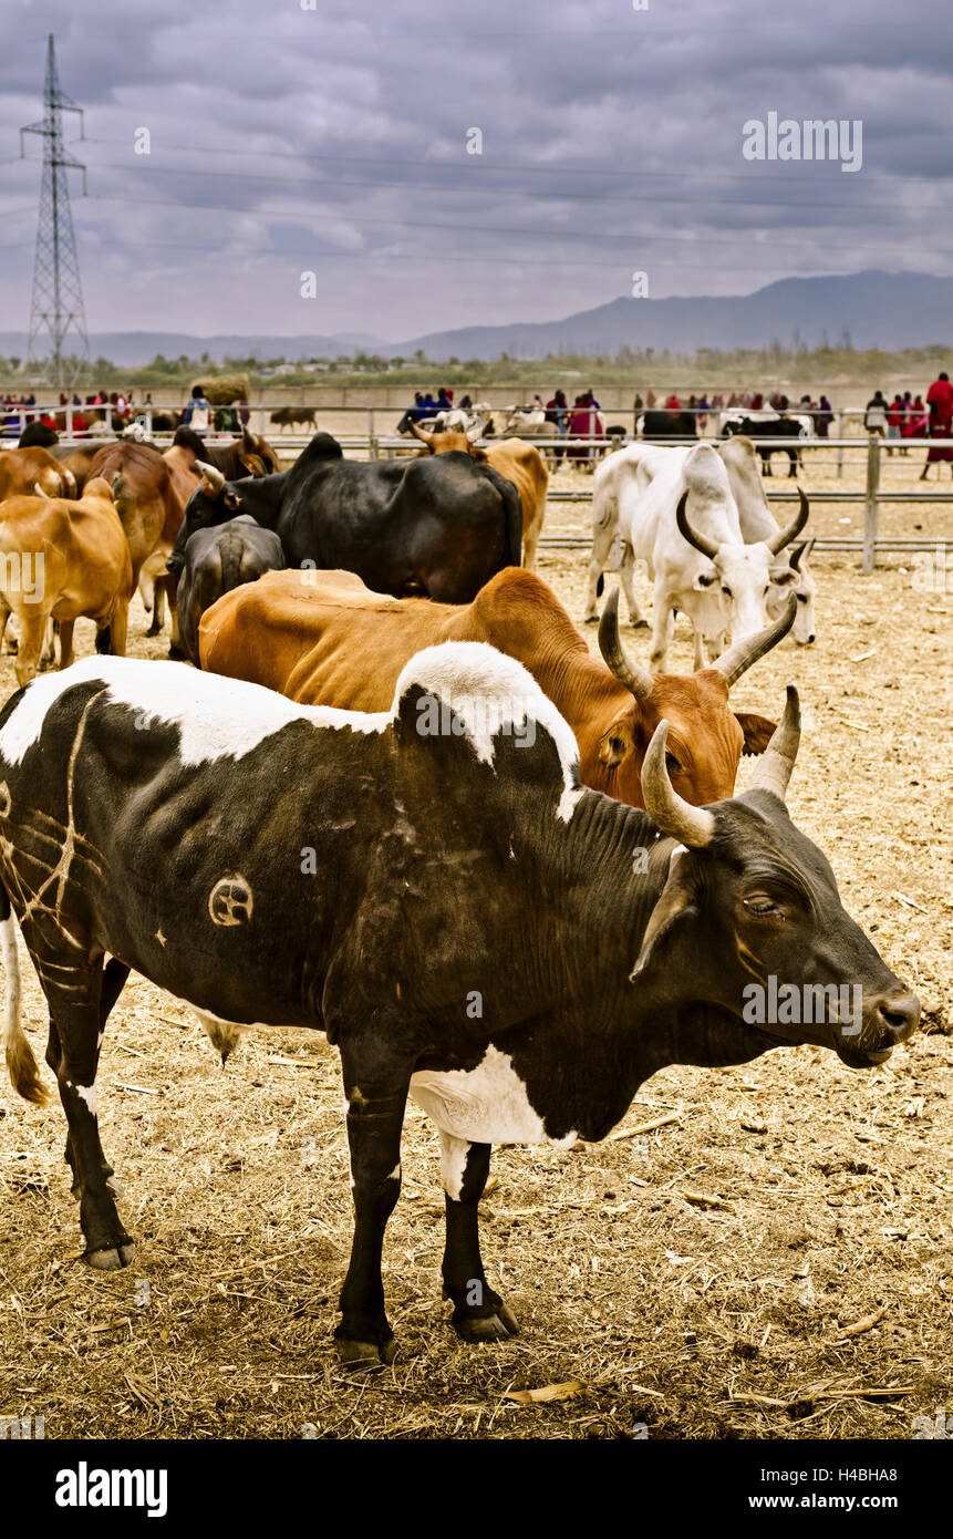
[[[132,563],[109,482],[94,477],[79,502],[9,497],[0,516],[0,642],[12,614],[20,622],[14,669],[28,683],[49,620],[60,626],[60,668],[72,662],[80,617],[109,626],[112,651],[126,649]]]

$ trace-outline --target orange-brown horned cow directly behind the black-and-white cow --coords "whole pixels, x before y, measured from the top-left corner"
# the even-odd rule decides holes
[[[391,599],[353,573],[283,571],[219,599],[199,628],[202,668],[249,679],[291,700],[390,709],[397,676],[423,646],[488,642],[519,659],[576,733],[585,785],[644,806],[642,760],[662,719],[668,770],[694,805],[731,796],[742,751],[764,753],[774,723],[736,714],[728,689],[791,628],[782,620],[737,642],[696,674],[650,674],[619,640],[617,591],[590,656],[556,594],[517,566],[497,573],[468,605]],[[608,666],[607,666],[608,665]]]

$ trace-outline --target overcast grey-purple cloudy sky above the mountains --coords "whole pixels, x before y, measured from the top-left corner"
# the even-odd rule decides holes
[[[28,322],[40,140],[20,162],[18,128],[48,31],[86,111],[91,331],[396,342],[556,319],[634,271],[653,297],[953,274],[950,0],[3,0],[3,18],[0,329]],[[770,112],[859,119],[862,168],[745,160]]]

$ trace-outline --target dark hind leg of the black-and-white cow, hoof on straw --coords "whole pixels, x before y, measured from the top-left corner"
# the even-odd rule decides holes
[[[48,1062],[57,1076],[60,1100],[69,1127],[66,1159],[79,1187],[80,1225],[86,1237],[83,1259],[100,1271],[128,1267],[135,1247],[115,1210],[112,1171],[103,1154],[95,1110],[95,1070],[105,1017],[115,1003],[129,970],[117,962],[65,965],[54,957],[34,957],[49,1003]]]

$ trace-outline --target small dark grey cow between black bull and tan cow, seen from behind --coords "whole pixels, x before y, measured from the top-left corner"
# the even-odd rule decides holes
[[[283,571],[285,553],[274,529],[240,514],[211,529],[196,529],[185,546],[179,579],[179,636],[185,656],[200,668],[199,622],[232,588],[256,582],[263,573]]]

